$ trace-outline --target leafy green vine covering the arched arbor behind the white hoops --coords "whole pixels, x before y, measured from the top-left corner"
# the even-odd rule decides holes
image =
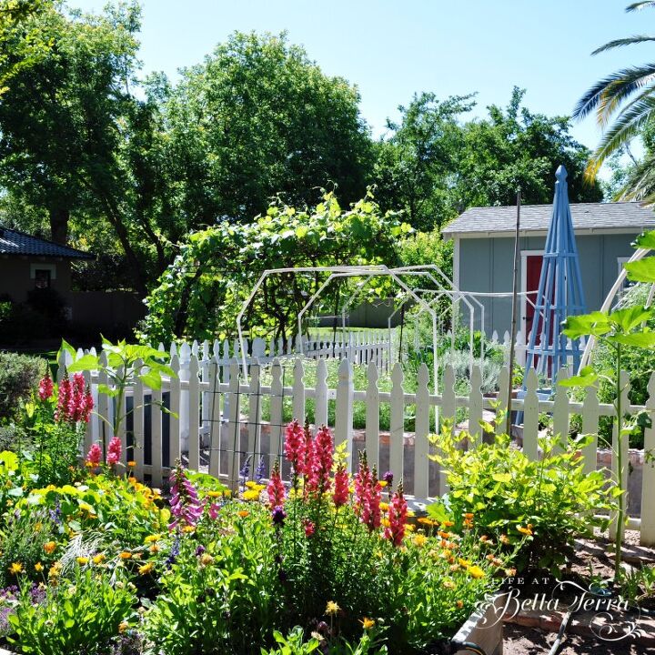
[[[382,214],[371,196],[344,210],[333,193],[317,207],[298,209],[276,201],[253,223],[222,221],[192,232],[180,254],[146,299],[141,338],[231,338],[237,313],[260,275],[270,268],[389,264],[398,261],[397,241],[411,232],[393,212]],[[307,299],[328,278],[276,275],[267,278],[248,307],[244,328],[251,337],[287,338]],[[341,282],[341,287],[347,284]],[[388,289],[380,279],[378,297]],[[326,289],[317,311],[334,313],[339,283]]]

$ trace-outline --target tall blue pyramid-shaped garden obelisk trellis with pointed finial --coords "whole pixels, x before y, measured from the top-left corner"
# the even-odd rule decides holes
[[[570,215],[566,168],[559,166],[555,177],[555,198],[539,276],[524,379],[527,379],[530,367],[547,378],[553,378],[560,368],[568,365],[569,358],[572,358],[574,368],[579,366],[579,341],[569,341],[561,324],[569,316],[585,313],[584,291]]]

